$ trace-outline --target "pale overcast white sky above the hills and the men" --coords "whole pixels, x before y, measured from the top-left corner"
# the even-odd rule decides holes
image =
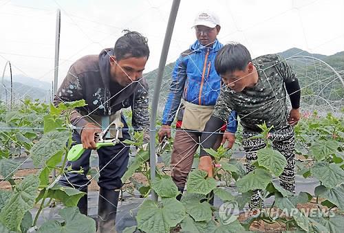
[[[0,0],[0,71],[51,82],[54,78],[56,9],[61,9],[59,83],[74,60],[113,47],[123,29],[147,36],[146,71],[158,67],[172,0]],[[169,50],[171,63],[195,41],[195,14],[216,12],[219,41],[239,41],[252,57],[299,47],[330,55],[344,51],[344,0],[182,0]],[[8,71],[6,74],[9,74]]]

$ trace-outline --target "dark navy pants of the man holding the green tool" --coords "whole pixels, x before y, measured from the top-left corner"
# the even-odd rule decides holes
[[[125,126],[122,129],[122,139],[130,139],[127,129],[127,124],[122,118]],[[73,133],[74,144],[80,144],[80,135],[76,132]],[[98,179],[98,186],[108,190],[114,190],[122,187],[120,180],[127,170],[129,160],[129,146],[119,142],[115,146],[104,146],[97,150],[99,157],[99,170],[100,177]],[[83,174],[78,173],[65,173],[58,181],[63,186],[72,186],[78,190],[86,190],[87,186],[91,183],[86,175],[89,171],[89,157],[92,150],[86,150],[81,157],[74,162],[67,162],[66,168],[72,165],[72,170],[80,170],[83,168]]]

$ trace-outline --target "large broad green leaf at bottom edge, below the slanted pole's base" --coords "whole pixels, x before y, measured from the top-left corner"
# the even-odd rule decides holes
[[[140,209],[136,220],[138,229],[144,232],[166,232],[175,227],[185,217],[185,208],[174,197],[162,199],[162,203],[146,199]]]

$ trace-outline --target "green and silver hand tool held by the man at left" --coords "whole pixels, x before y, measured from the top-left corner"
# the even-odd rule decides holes
[[[107,133],[109,133],[111,126],[115,126],[115,128],[117,129],[116,137],[107,140],[106,139]],[[118,135],[120,131],[118,129],[122,127],[123,127],[123,123],[115,120],[114,122],[111,122],[111,124],[109,124],[109,126],[107,126],[107,128],[104,129],[99,135],[96,135],[96,138],[98,138],[98,141],[96,142],[96,150],[98,150],[99,148],[103,146],[114,146],[118,142],[120,142],[120,140],[118,139]],[[83,148],[83,144],[76,144],[72,146],[72,148],[70,148],[67,155],[68,161],[78,160],[78,158],[84,153],[84,151],[85,151],[85,148]]]

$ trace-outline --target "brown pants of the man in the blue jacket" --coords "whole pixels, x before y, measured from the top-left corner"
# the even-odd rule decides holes
[[[175,132],[173,151],[171,155],[171,176],[175,185],[184,187],[193,164],[193,155],[200,147],[202,132],[179,129]],[[217,142],[213,146],[216,150],[222,141],[222,134],[218,134]]]

